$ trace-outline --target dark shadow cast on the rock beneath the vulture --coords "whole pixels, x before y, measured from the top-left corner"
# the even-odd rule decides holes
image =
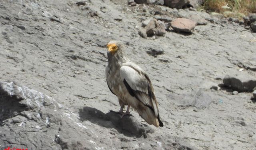
[[[79,109],[79,116],[82,122],[89,120],[90,122],[105,128],[115,128],[119,133],[122,133],[125,136],[144,136],[144,138],[146,138],[147,133],[154,132],[152,128],[140,123],[140,121],[133,116],[124,116],[123,118],[120,118],[120,114],[114,112],[104,114],[100,110],[92,107]]]

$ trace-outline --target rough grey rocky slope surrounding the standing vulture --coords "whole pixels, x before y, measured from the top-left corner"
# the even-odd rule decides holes
[[[0,2],[1,150],[256,149],[248,24],[194,8],[77,2]],[[105,78],[112,39],[148,73],[163,128],[133,109],[108,112],[119,109]]]

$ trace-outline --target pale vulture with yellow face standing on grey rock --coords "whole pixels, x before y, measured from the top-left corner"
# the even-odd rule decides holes
[[[121,106],[116,113],[122,114],[121,118],[130,115],[130,106],[132,106],[148,124],[156,127],[164,126],[159,118],[158,102],[148,75],[126,57],[122,43],[110,41],[107,47],[107,84],[110,91],[117,96]],[[125,105],[128,106],[124,113]]]

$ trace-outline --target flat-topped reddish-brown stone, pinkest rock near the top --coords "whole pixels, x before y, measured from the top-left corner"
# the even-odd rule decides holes
[[[196,22],[186,18],[177,18],[171,22],[171,27],[178,32],[192,33],[196,26]]]

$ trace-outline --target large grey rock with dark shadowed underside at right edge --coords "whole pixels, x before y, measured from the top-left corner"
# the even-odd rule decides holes
[[[256,87],[256,79],[240,74],[235,76],[226,75],[223,79],[223,84],[238,92],[251,92]]]

